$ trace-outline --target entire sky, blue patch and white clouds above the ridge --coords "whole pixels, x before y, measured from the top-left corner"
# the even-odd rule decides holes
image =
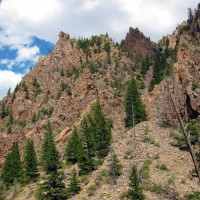
[[[0,1],[0,99],[14,89],[62,30],[71,37],[109,33],[114,41],[138,27],[158,41],[187,19],[199,0],[2,0]]]

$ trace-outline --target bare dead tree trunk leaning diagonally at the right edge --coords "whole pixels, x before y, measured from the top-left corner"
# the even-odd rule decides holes
[[[170,95],[170,99],[172,101],[172,105],[174,107],[174,111],[176,113],[176,116],[178,118],[178,121],[179,121],[179,124],[181,126],[181,129],[183,131],[183,135],[186,139],[186,142],[187,142],[187,146],[189,148],[189,152],[190,152],[190,155],[192,157],[192,161],[193,161],[193,164],[194,164],[194,167],[195,167],[195,171],[197,173],[197,176],[198,176],[198,179],[199,179],[199,182],[200,182],[200,170],[199,170],[199,165],[198,165],[198,162],[197,162],[197,159],[196,159],[196,156],[195,156],[195,152],[194,152],[194,149],[192,147],[192,144],[191,144],[191,141],[190,141],[190,137],[189,137],[189,134],[187,133],[186,129],[184,128],[184,124],[183,124],[183,121],[181,119],[181,116],[180,116],[180,113],[178,112],[178,109],[176,107],[176,104],[175,104],[175,100],[172,96],[172,93],[170,92],[170,88],[169,88],[169,82],[166,78],[166,82],[167,82],[167,89],[168,89],[168,92],[169,92],[169,95]]]

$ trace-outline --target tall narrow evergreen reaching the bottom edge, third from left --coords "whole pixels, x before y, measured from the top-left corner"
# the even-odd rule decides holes
[[[37,190],[40,200],[66,200],[65,185],[58,173],[59,157],[56,149],[50,122],[46,125],[46,132],[42,144],[43,166],[46,172],[44,183]]]

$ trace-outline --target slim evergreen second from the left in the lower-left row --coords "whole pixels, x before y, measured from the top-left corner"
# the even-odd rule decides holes
[[[37,158],[33,140],[28,139],[24,154],[25,175],[28,181],[35,180],[38,176]]]

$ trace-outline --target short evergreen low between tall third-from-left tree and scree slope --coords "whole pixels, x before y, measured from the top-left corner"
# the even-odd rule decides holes
[[[72,172],[71,179],[70,179],[68,192],[70,196],[74,196],[75,194],[78,194],[80,190],[81,190],[80,181],[77,178],[76,170],[74,169]]]

